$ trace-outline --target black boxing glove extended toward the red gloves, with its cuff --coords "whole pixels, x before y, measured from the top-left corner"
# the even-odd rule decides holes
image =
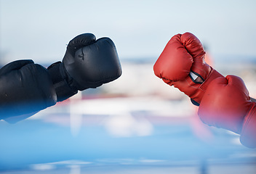
[[[57,101],[68,99],[77,91],[97,88],[121,75],[113,41],[110,38],[96,40],[91,33],[73,38],[68,43],[63,61],[47,69],[55,86]]]

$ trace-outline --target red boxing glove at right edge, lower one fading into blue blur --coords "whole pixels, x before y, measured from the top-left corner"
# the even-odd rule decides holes
[[[256,147],[256,103],[241,78],[228,75],[212,80],[198,114],[205,124],[239,133],[241,144]]]

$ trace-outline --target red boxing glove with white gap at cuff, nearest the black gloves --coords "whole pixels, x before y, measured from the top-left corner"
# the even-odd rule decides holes
[[[205,51],[192,33],[173,36],[153,65],[155,75],[199,105],[209,83],[223,77],[204,61]],[[196,101],[196,102],[195,102]]]

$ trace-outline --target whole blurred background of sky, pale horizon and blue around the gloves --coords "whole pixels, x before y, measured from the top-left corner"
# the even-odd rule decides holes
[[[0,65],[63,59],[81,33],[109,37],[123,74],[14,125],[0,121],[0,173],[255,173],[256,151],[201,123],[153,74],[169,39],[191,32],[210,64],[256,98],[256,1],[0,0]]]

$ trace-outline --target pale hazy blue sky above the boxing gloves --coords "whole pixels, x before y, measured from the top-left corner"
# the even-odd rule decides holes
[[[256,57],[255,7],[254,0],[0,0],[0,59],[57,62],[81,33],[111,38],[120,59],[157,59],[185,32],[216,57]]]

